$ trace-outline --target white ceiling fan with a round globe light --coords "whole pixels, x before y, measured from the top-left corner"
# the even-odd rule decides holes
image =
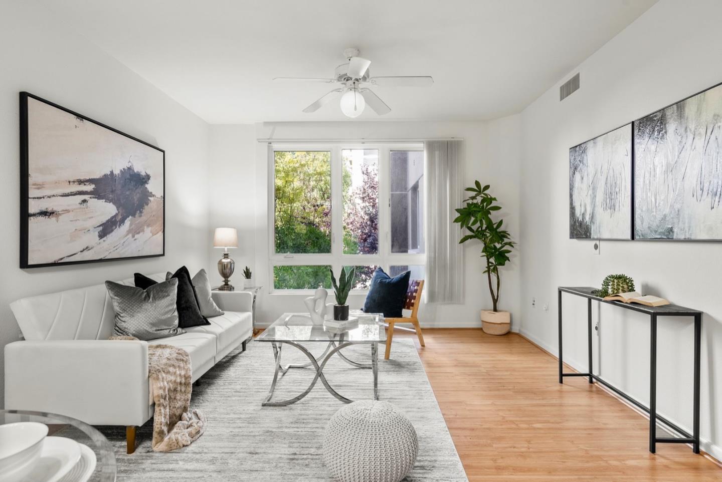
[[[341,84],[338,88],[331,90],[320,99],[313,102],[303,110],[305,113],[316,112],[323,105],[326,105],[336,97],[341,97],[341,110],[348,117],[361,115],[368,105],[378,115],[391,112],[386,102],[371,92],[366,85],[380,85],[382,87],[426,87],[434,83],[430,76],[381,76],[372,77],[369,74],[368,66],[371,61],[359,57],[360,51],[357,48],[347,48],[344,57],[347,63],[336,67],[333,79],[318,79],[309,77],[276,77],[274,81],[295,81],[295,82],[318,82],[324,84]]]

